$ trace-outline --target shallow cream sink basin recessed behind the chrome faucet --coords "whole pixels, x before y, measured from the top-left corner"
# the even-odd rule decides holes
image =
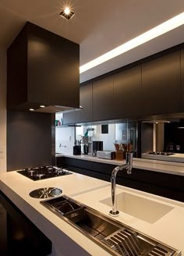
[[[111,207],[111,197],[105,198],[100,202]],[[173,209],[166,204],[161,204],[126,192],[117,194],[116,202],[119,211],[125,212],[128,215],[132,215],[150,224],[157,222],[158,219],[161,219],[161,217]]]

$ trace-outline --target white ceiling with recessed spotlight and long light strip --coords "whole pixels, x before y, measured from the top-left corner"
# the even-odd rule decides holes
[[[69,2],[76,15],[59,16]],[[184,11],[184,0],[0,0],[0,44],[6,48],[28,20],[80,44],[80,65]],[[80,81],[107,73],[184,42],[184,26],[80,75]]]

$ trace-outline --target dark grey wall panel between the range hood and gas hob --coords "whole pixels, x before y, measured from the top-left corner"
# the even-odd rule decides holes
[[[51,165],[51,114],[7,112],[8,171]]]

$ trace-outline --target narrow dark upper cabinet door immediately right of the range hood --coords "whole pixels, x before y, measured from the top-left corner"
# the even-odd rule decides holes
[[[93,121],[92,83],[80,87],[80,105],[83,109],[76,112],[76,123],[87,123]]]

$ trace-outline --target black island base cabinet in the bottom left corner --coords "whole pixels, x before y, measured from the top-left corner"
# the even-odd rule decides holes
[[[46,256],[51,241],[0,191],[0,255]]]

